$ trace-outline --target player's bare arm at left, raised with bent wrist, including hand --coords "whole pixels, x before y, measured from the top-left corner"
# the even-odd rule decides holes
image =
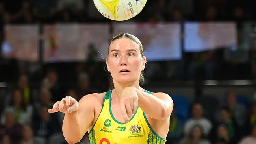
[[[84,96],[79,103],[74,98],[66,96],[48,110],[50,113],[65,113],[62,131],[69,144],[79,142],[93,122],[94,106],[90,95]]]

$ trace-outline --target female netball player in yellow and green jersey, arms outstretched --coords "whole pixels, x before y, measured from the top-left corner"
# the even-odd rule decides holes
[[[67,142],[79,142],[88,131],[91,144],[164,144],[173,100],[140,87],[146,57],[139,39],[128,33],[115,36],[106,65],[113,90],[88,94],[79,102],[66,96],[48,110],[65,113],[62,128]]]

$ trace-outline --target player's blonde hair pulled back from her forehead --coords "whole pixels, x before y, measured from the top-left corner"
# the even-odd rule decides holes
[[[120,33],[120,34],[116,35],[115,37],[113,37],[113,39],[111,39],[111,41],[109,42],[109,45],[108,45],[108,55],[109,55],[110,44],[113,41],[115,41],[117,39],[121,39],[121,38],[128,38],[128,39],[136,42],[139,46],[139,52],[141,54],[141,57],[144,57],[143,46],[141,44],[141,41],[137,37],[135,37],[134,35],[132,35],[130,33]],[[146,61],[146,65],[147,65],[147,61]],[[113,81],[113,79],[112,79],[112,81]],[[143,85],[144,83],[145,83],[144,73],[143,73],[143,71],[141,71],[141,73],[139,75],[139,84]],[[113,82],[112,82],[112,84],[113,84]]]

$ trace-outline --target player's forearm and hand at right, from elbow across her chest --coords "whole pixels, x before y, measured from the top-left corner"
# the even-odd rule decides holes
[[[173,111],[173,100],[168,94],[149,94],[135,87],[124,88],[120,96],[120,106],[126,122],[129,122],[138,105],[147,116],[156,120],[169,118]]]

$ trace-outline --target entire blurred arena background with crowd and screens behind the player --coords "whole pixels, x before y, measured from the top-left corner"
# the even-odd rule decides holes
[[[148,0],[115,22],[93,0],[0,0],[0,144],[66,144],[47,109],[111,89],[104,60],[122,32],[144,46],[143,87],[174,100],[167,144],[256,144],[255,6]]]

